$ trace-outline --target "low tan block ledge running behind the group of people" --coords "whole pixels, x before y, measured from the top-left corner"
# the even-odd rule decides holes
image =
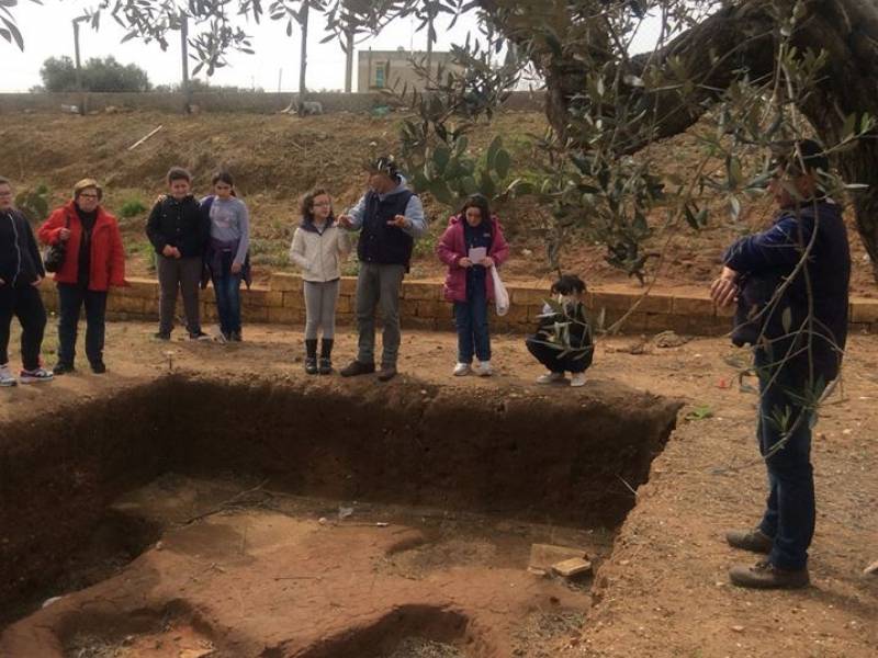
[[[533,330],[537,316],[542,311],[548,291],[522,284],[507,286],[511,305],[509,311],[498,317],[491,309],[491,326],[495,331],[526,333]],[[339,324],[356,320],[357,279],[342,276],[337,307]],[[57,310],[55,286],[46,283],[42,287],[43,300],[48,310]],[[604,316],[604,327],[626,317],[623,333],[657,333],[673,330],[690,336],[722,336],[731,330],[731,310],[718,309],[705,294],[652,293],[645,297],[637,292],[607,291],[596,288],[586,297],[586,307],[592,317]],[[275,272],[268,286],[254,286],[241,291],[241,309],[246,322],[272,322],[297,325],[305,320],[305,300],[302,294],[302,277],[296,274]],[[158,318],[158,282],[150,279],[128,280],[128,285],[114,288],[108,303],[110,317],[123,319]],[[178,313],[182,305],[178,303]],[[201,295],[202,319],[216,320],[213,291],[209,287]],[[442,283],[437,281],[405,281],[401,302],[403,326],[416,329],[453,330],[451,304],[442,297]],[[857,332],[878,331],[878,299],[855,297],[848,313],[851,330]]]

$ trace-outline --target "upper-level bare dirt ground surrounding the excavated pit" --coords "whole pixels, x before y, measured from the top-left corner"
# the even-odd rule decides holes
[[[124,392],[166,373],[169,361],[175,368],[195,374],[210,370],[235,381],[305,378],[297,330],[248,327],[248,342],[216,345],[154,343],[148,339],[153,329],[110,326],[106,376],[81,373],[45,387],[0,392],[0,423],[52,413],[59,402]],[[354,342],[350,329],[342,329],[338,363],[352,355]],[[540,368],[520,337],[495,337],[498,373],[493,379],[452,379],[453,345],[450,333],[405,332],[403,375],[390,387],[427,383],[473,397],[497,386],[508,388],[510,396],[578,395],[532,385]],[[585,621],[567,617],[525,626],[537,636],[540,628],[565,628],[561,635],[547,633],[540,648],[548,655],[873,658],[878,651],[878,577],[863,574],[878,558],[878,343],[875,337],[852,337],[843,396],[825,407],[814,433],[819,517],[811,553],[813,586],[797,592],[754,592],[728,585],[728,567],[751,557],[725,546],[722,532],[755,522],[764,496],[762,467],[750,465],[755,456],[754,398],[733,382],[724,361],[733,353],[720,339],[696,339],[672,349],[644,347],[638,338],[599,342],[592,382],[614,379],[682,396],[687,401],[682,417],[693,420],[682,422],[653,463],[650,483],[639,489],[638,504],[597,572]],[[326,385],[338,390],[350,386],[340,378]],[[10,532],[2,530],[0,535]],[[201,627],[191,611],[166,613],[170,621]],[[144,621],[145,627],[155,627],[150,624]]]

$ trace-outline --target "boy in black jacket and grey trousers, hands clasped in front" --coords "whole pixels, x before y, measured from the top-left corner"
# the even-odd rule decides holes
[[[211,224],[191,193],[192,177],[185,169],[168,171],[170,194],[149,214],[146,235],[156,250],[159,283],[159,327],[156,338],[169,340],[173,329],[177,291],[183,296],[187,330],[191,340],[210,340],[201,330],[199,284]]]

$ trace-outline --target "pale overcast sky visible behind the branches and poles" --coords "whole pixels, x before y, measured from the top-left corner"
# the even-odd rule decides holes
[[[20,0],[14,8],[19,27],[25,39],[24,52],[0,39],[0,91],[27,91],[41,84],[40,67],[48,57],[74,55],[74,33],[71,20],[82,13],[83,8],[93,5],[89,0],[44,0],[38,5],[29,0]],[[463,43],[468,32],[477,33],[474,15],[464,15],[449,30],[448,21],[437,25],[437,50],[448,49],[452,43]],[[308,37],[307,87],[313,90],[342,89],[345,86],[345,53],[336,41],[320,44],[326,35],[325,18],[312,12]],[[401,20],[392,23],[379,36],[358,45],[358,49],[408,49],[426,47],[427,34],[414,32],[416,23]],[[294,91],[299,87],[299,52],[301,35],[294,30],[292,37],[285,33],[285,22],[270,21],[267,16],[261,24],[245,29],[254,37],[256,55],[233,54],[229,66],[218,69],[213,76],[215,84],[236,84],[256,87],[266,91],[278,91],[279,75],[281,90]],[[644,32],[644,35],[648,34]],[[179,39],[162,52],[157,44],[143,44],[133,39],[125,44],[120,41],[124,31],[108,15],[102,20],[99,32],[83,26],[80,31],[81,56],[113,55],[122,64],[137,64],[146,69],[153,84],[175,83],[180,80]],[[637,48],[635,48],[637,49]],[[190,64],[190,68],[192,65]],[[282,73],[281,73],[282,69]],[[204,78],[204,76],[200,76]],[[354,90],[357,73],[354,65]]]

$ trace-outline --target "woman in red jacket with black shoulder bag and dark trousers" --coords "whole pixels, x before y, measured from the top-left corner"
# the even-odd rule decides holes
[[[125,285],[125,251],[116,218],[101,206],[103,193],[93,179],[74,185],[74,200],[53,211],[40,227],[46,245],[64,242],[64,262],[55,274],[58,284],[58,363],[54,373],[74,370],[79,311],[86,307],[86,355],[94,373],[103,363],[106,293]]]

